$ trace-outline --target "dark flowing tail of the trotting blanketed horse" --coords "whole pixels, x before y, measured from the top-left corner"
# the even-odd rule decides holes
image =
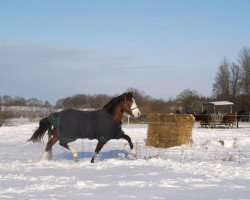
[[[28,140],[28,142],[30,142],[30,141],[31,142],[41,142],[46,131],[48,130],[48,133],[50,133],[51,128],[52,128],[52,125],[51,125],[48,117],[41,119],[39,122],[38,129],[34,132],[34,134],[31,136],[31,138]]]

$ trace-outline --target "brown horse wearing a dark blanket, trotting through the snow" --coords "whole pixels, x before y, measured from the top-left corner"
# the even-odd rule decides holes
[[[121,129],[124,112],[134,118],[141,115],[131,92],[114,97],[99,110],[65,109],[52,113],[40,120],[39,127],[28,142],[41,142],[48,132],[50,139],[41,160],[51,159],[52,147],[59,141],[62,147],[71,151],[74,160],[78,161],[77,151],[68,143],[85,138],[98,140],[91,163],[95,163],[101,149],[111,139],[125,139],[130,146],[131,154],[136,156],[131,138]]]

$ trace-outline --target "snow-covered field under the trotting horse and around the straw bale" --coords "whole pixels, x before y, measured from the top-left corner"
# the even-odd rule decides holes
[[[58,144],[38,162],[45,143],[26,143],[37,126],[0,127],[0,199],[250,199],[250,124],[194,128],[193,145],[170,149],[145,146],[147,125],[124,125],[138,157],[114,140],[95,164],[95,140],[72,143],[77,163]]]

